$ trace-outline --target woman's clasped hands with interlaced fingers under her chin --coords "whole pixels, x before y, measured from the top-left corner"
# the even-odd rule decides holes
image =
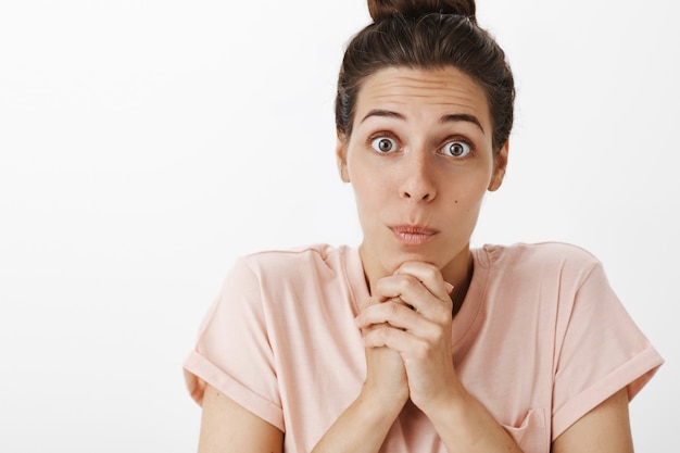
[[[453,287],[427,263],[406,262],[378,280],[356,325],[366,348],[366,385],[386,401],[411,401],[426,414],[458,383],[451,351]]]

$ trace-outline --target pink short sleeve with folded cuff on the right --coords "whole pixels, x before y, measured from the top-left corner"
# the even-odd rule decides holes
[[[631,400],[663,364],[633,323],[597,262],[581,278],[572,303],[561,301],[553,440],[622,388]]]

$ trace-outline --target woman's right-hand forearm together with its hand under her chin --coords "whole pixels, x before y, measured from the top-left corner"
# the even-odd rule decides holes
[[[378,282],[386,299],[357,318],[370,348],[398,351],[404,362],[410,397],[432,421],[450,453],[521,450],[491,413],[464,388],[451,352],[452,302],[439,269],[405,263]],[[404,303],[393,303],[394,298]],[[370,328],[368,328],[370,327]]]

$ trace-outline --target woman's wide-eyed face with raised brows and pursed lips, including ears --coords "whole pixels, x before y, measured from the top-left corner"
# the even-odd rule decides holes
[[[494,155],[491,139],[483,90],[453,67],[386,68],[365,81],[337,152],[372,282],[405,261],[435,264],[451,279],[466,267],[484,192],[505,172],[507,147]]]

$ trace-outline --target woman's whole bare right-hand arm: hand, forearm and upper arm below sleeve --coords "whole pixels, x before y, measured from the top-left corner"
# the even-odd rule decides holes
[[[369,306],[358,319],[368,347],[400,351],[412,401],[430,418],[450,453],[520,452],[491,413],[470,395],[457,377],[446,349],[451,338],[451,309],[443,284],[423,264],[403,267],[402,276],[386,278],[381,292],[400,297],[414,311],[389,302]],[[443,303],[442,302],[446,302]],[[552,453],[632,453],[628,394],[620,390],[559,436]]]

